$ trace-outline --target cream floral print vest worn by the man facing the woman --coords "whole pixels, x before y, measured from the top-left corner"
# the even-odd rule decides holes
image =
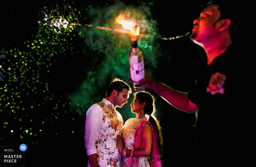
[[[103,99],[97,104],[103,113],[101,134],[95,142],[99,167],[120,167],[121,153],[115,139],[121,134],[123,119],[108,100]]]

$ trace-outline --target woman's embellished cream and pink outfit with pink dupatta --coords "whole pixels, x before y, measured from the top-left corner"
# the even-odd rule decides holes
[[[162,167],[158,150],[157,132],[152,124],[147,121],[147,118],[131,118],[125,122],[122,130],[125,148],[128,148],[129,150],[142,148],[142,128],[144,126],[150,128],[152,132],[150,152],[151,167]],[[120,167],[150,167],[150,165],[148,164],[146,157],[122,157]]]

